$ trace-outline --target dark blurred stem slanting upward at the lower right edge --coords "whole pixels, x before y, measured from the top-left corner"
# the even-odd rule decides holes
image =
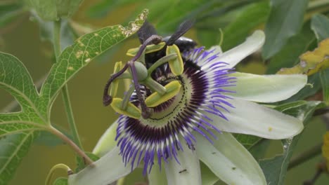
[[[292,169],[293,167],[295,167],[297,165],[304,163],[305,161],[307,161],[311,158],[314,158],[315,156],[318,156],[318,154],[321,154],[322,145],[323,144],[321,143],[316,146],[313,146],[311,149],[304,151],[299,156],[292,158],[292,160],[290,160],[288,170]]]

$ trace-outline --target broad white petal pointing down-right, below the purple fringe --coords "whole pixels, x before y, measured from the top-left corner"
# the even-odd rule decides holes
[[[202,135],[195,137],[200,160],[226,184],[266,184],[257,161],[231,134],[217,133],[214,145]]]

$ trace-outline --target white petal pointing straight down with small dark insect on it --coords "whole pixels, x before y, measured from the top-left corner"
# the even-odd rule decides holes
[[[164,169],[167,175],[167,182],[170,185],[201,185],[201,172],[199,158],[195,151],[188,149],[183,145],[183,151],[179,150],[177,157],[179,163],[172,158],[168,163],[164,163]]]

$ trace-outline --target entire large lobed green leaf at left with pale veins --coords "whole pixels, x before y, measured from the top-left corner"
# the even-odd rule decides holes
[[[53,65],[40,94],[22,62],[13,55],[0,53],[0,88],[13,95],[21,107],[19,112],[0,114],[0,184],[8,184],[13,177],[39,133],[35,130],[50,129],[51,105],[60,88],[93,57],[134,34],[147,13],[144,11],[129,27],[105,27],[79,38]],[[9,135],[14,133],[18,134]]]

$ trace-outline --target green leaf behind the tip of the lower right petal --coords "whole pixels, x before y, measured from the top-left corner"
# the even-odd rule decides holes
[[[322,107],[321,102],[292,102],[283,104],[276,109],[283,111],[284,114],[295,116],[304,121],[304,125],[307,125],[307,121],[311,118],[314,110],[318,107]],[[292,151],[295,148],[300,135],[293,137],[292,139],[283,139],[283,153],[270,159],[261,160],[259,165],[264,171],[267,184],[283,184],[285,174],[287,173],[288,164],[292,156]]]

